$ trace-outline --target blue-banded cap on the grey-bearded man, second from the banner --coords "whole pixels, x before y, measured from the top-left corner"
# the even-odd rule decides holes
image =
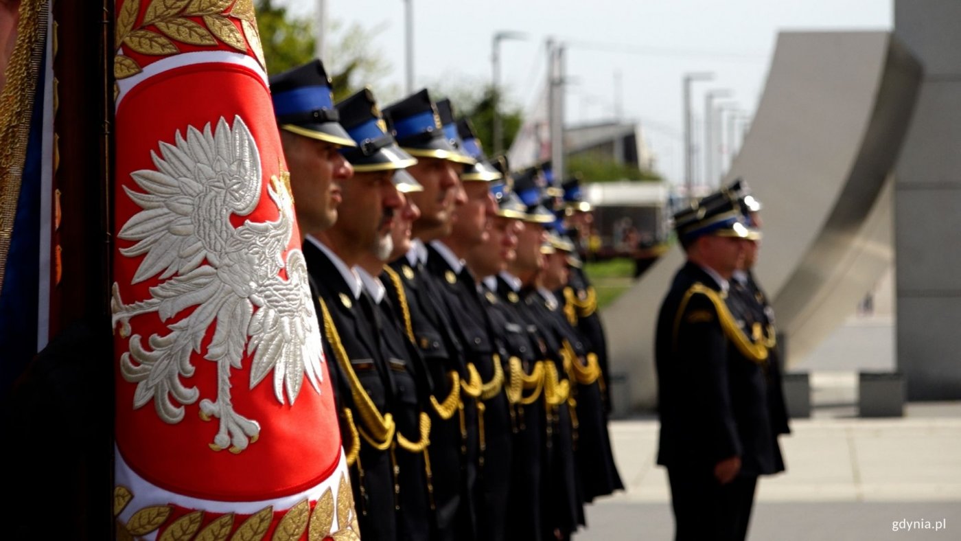
[[[414,157],[397,146],[394,136],[387,131],[387,123],[383,121],[370,88],[338,103],[337,112],[340,123],[357,143],[355,147],[340,150],[355,171],[389,171],[417,163]]]

